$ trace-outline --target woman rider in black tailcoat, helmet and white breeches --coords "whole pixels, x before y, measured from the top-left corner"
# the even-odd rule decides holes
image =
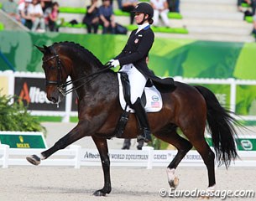
[[[146,63],[146,58],[149,55],[149,50],[154,43],[154,32],[150,28],[153,23],[154,10],[149,3],[138,3],[134,8],[135,21],[138,28],[132,31],[128,38],[128,42],[119,54],[114,59],[109,61],[112,67],[121,65],[121,72],[128,74],[130,82],[130,95],[132,108],[135,111],[138,120],[140,133],[137,137],[138,142],[150,142],[151,135],[149,129],[149,121],[145,112],[141,95],[147,80],[153,81],[154,85],[159,90],[174,90],[173,80],[170,78],[160,79],[156,77]]]

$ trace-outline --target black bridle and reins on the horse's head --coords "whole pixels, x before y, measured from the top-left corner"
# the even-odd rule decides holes
[[[86,76],[78,78],[76,80],[65,81],[65,80],[63,80],[63,76],[62,76],[62,69],[65,70],[64,64],[62,64],[62,62],[60,60],[60,56],[59,56],[59,54],[56,53],[55,48],[51,47],[51,49],[52,49],[54,55],[51,56],[48,59],[45,59],[45,60],[43,59],[43,64],[47,63],[51,59],[55,59],[56,60],[56,64],[55,65],[56,65],[56,68],[58,70],[58,74],[57,74],[57,80],[48,80],[47,77],[45,76],[45,85],[46,86],[48,86],[48,85],[56,85],[57,86],[57,90],[59,90],[61,95],[67,95],[67,94],[71,93],[72,91],[79,89],[82,85],[86,85],[91,80],[94,80],[97,77],[97,76],[94,76],[94,75],[100,75],[100,74],[102,74],[103,72],[109,70],[112,67],[110,64],[107,63],[107,64],[104,65],[105,68],[103,68],[102,70],[98,70],[95,73],[92,73],[90,75],[86,75]],[[55,68],[55,66],[54,66],[54,68]],[[91,79],[87,80],[89,77],[91,77]],[[76,82],[80,81],[80,80],[86,80],[86,82],[84,82],[81,85],[78,85],[78,86],[75,87],[74,84]],[[69,89],[69,90],[65,90],[65,87],[68,86],[68,85],[71,85],[71,84],[73,85],[73,87],[71,87],[71,89]]]

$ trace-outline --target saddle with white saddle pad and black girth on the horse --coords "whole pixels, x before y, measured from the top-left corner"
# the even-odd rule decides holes
[[[119,84],[119,101],[120,105],[123,108],[123,113],[119,118],[118,125],[114,134],[116,137],[122,137],[125,126],[128,122],[129,113],[134,113],[131,99],[130,99],[130,83],[128,80],[128,75],[124,72],[118,72],[118,84]],[[145,106],[146,112],[157,112],[162,109],[163,101],[162,96],[152,84],[151,80],[148,80],[143,95],[141,96],[141,100]]]

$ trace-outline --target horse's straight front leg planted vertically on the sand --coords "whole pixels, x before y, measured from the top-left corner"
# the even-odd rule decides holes
[[[102,169],[104,173],[104,187],[93,193],[95,196],[105,196],[106,193],[111,192],[111,182],[110,182],[110,161],[108,156],[107,140],[99,137],[92,137],[96,144],[97,150],[100,153],[102,160]]]

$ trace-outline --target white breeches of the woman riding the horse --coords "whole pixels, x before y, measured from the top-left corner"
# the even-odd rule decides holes
[[[131,90],[131,103],[133,104],[143,94],[147,79],[136,69],[133,64],[123,65],[120,72],[125,72],[128,75]]]

